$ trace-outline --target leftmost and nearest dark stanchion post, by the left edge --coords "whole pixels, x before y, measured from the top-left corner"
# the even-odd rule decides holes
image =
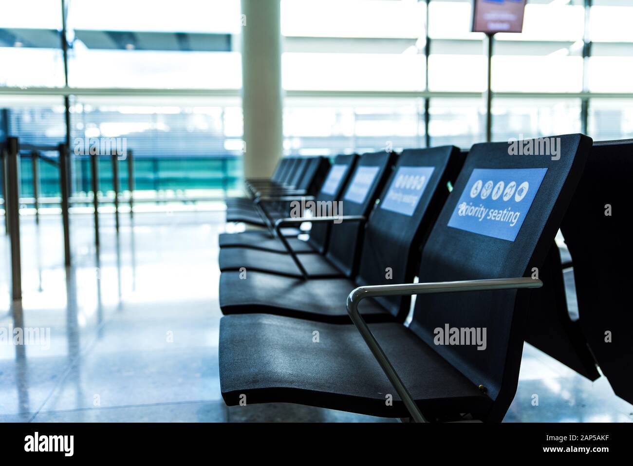
[[[4,208],[9,222],[9,242],[11,243],[11,298],[22,299],[22,260],[20,258],[20,175],[18,169],[18,138],[7,139],[7,154],[4,165],[6,191]]]

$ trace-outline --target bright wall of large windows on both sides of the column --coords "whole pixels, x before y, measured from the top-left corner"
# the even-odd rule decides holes
[[[125,137],[142,189],[237,186],[241,32],[256,20],[242,18],[240,0],[66,3],[68,82],[79,89],[72,137]],[[471,9],[470,0],[281,0],[284,153],[484,141],[487,61]],[[530,0],[523,32],[494,37],[493,139],[633,137],[631,18],[633,0]],[[0,137],[65,139],[61,28],[57,0],[0,2]],[[82,163],[73,161],[76,192],[87,189]]]

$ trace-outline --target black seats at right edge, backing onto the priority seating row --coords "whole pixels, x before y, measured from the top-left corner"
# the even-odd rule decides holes
[[[633,404],[633,245],[624,208],[632,171],[633,140],[594,142],[560,227],[572,258],[562,268],[573,268],[579,318],[570,318],[561,256],[551,248],[543,267],[549,276],[532,295],[526,341],[591,381],[605,375]]]

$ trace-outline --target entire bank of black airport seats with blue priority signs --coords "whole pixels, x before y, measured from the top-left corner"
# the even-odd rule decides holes
[[[620,328],[630,313],[618,312],[617,299],[626,302],[620,291],[602,299],[629,277],[622,263],[622,277],[611,280],[613,258],[630,246],[613,241],[621,220],[598,217],[608,202],[595,197],[613,167],[599,151],[617,152],[613,159],[628,168],[631,145],[592,149],[580,134],[559,141],[559,158],[513,156],[507,143],[475,144],[467,154],[444,146],[337,156],[310,198],[332,212],[307,217],[291,207],[306,200],[291,194],[300,178],[288,182],[279,173],[292,172],[281,168],[289,161],[276,179],[254,180],[282,194],[271,200],[278,203],[272,213],[261,209],[266,194],[253,195],[249,180],[251,196],[240,207],[260,209],[262,224],[274,226],[220,235],[227,405],[287,402],[415,420],[499,421],[517,390],[524,340],[589,378],[599,376],[597,361],[616,393],[632,401],[630,344]],[[617,203],[616,191],[604,192]],[[295,215],[280,216],[288,212]],[[587,215],[592,225],[579,227]],[[306,241],[284,234],[306,220]],[[591,282],[578,293],[579,322],[568,317],[553,246],[560,228],[577,286]],[[603,241],[611,241],[608,259]],[[618,345],[605,348],[605,329]]]

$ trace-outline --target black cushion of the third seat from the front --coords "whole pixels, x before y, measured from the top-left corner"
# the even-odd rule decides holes
[[[343,277],[342,272],[318,254],[302,254],[298,256],[301,265],[310,278]],[[289,254],[258,251],[249,248],[222,248],[218,258],[220,270],[246,270],[266,272],[268,274],[286,275],[301,278],[301,270]]]

